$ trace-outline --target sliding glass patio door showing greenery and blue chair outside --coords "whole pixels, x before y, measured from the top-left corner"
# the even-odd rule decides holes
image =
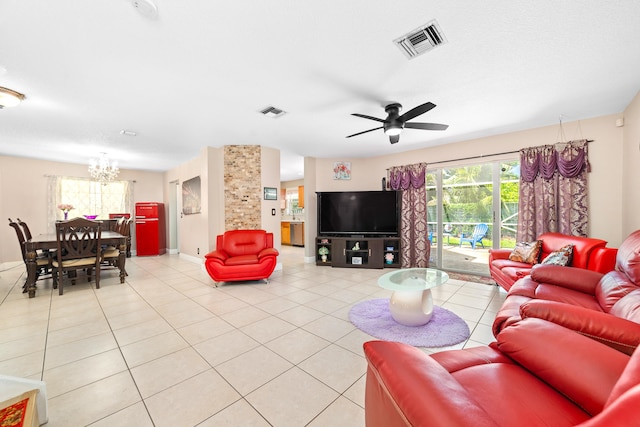
[[[489,249],[515,245],[519,172],[517,160],[427,171],[430,266],[489,275]]]

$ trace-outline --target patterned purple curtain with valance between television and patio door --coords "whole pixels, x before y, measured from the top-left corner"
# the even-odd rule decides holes
[[[403,268],[429,266],[431,245],[427,226],[426,172],[426,163],[389,169],[391,189],[402,191],[400,253]]]

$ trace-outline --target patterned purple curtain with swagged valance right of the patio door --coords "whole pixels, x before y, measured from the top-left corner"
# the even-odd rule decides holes
[[[587,140],[520,150],[517,240],[545,232],[587,236]]]

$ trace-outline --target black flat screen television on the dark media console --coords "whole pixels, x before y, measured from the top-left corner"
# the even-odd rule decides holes
[[[318,192],[318,235],[398,236],[400,192]]]

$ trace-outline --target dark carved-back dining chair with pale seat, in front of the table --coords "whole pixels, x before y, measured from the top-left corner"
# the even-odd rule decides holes
[[[67,272],[75,285],[75,274],[86,270],[87,280],[95,271],[96,289],[100,289],[101,224],[86,218],[74,218],[56,223],[57,258],[53,261],[53,288],[64,292],[63,274]]]

